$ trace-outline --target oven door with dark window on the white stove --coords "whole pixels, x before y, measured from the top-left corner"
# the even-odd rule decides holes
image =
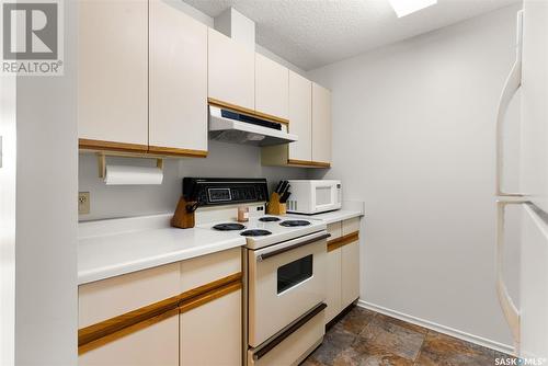
[[[326,299],[327,238],[323,230],[248,252],[252,347]]]

